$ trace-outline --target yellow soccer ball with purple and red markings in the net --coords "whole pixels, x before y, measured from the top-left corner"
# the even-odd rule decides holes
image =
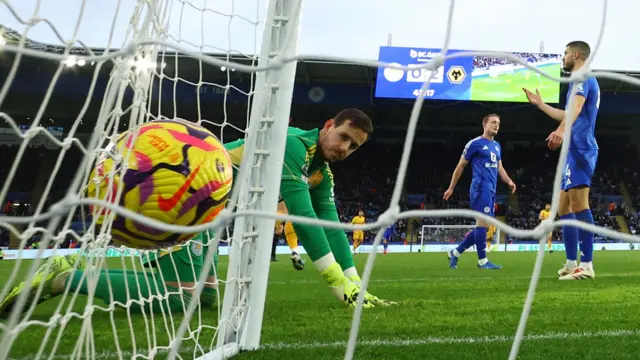
[[[135,137],[135,138],[134,138]],[[98,158],[89,198],[175,225],[211,222],[224,209],[233,183],[229,154],[209,130],[181,120],[157,120],[124,132]],[[169,248],[194,234],[165,232],[95,206],[97,222],[112,219],[116,245]]]

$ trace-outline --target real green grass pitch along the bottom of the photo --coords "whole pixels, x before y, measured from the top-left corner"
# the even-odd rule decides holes
[[[561,282],[555,272],[562,253],[545,256],[543,278],[527,326],[519,359],[637,359],[640,346],[640,252],[596,252],[594,281]],[[481,271],[474,254],[450,270],[445,255],[391,254],[378,256],[370,292],[399,300],[400,305],[365,311],[357,359],[506,359],[520,318],[535,253],[492,253],[500,271]],[[222,268],[224,261],[222,259]],[[365,255],[356,256],[362,268]],[[116,262],[117,263],[117,262]],[[13,262],[0,262],[3,284]],[[114,263],[115,264],[115,263]],[[102,305],[101,302],[98,302]],[[47,321],[56,300],[37,307],[33,318]],[[74,311],[82,312],[83,303]],[[127,313],[113,312],[121,351],[131,358],[132,336]],[[174,321],[177,328],[179,315]],[[192,324],[215,324],[215,311],[203,311]],[[162,315],[151,321],[131,315],[138,354],[149,348],[147,331],[157,344],[167,344]],[[331,298],[317,272],[308,266],[294,271],[286,257],[272,263],[260,350],[242,353],[255,359],[342,359],[351,327],[352,311]],[[96,352],[101,359],[114,356],[114,335],[108,313],[96,311],[91,320]],[[79,321],[67,324],[56,354],[67,359],[80,335]],[[172,328],[171,324],[168,328]],[[44,339],[43,326],[24,329],[13,345],[11,357],[33,359]],[[60,328],[55,328],[53,342]],[[201,334],[208,346],[213,331]],[[181,355],[193,357],[193,341],[184,343]],[[163,358],[159,354],[157,358]]]

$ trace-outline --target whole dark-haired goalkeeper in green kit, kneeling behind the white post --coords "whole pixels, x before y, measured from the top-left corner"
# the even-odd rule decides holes
[[[333,174],[328,162],[345,159],[367,140],[372,131],[373,126],[369,117],[355,109],[343,110],[334,119],[328,120],[322,129],[303,131],[290,127],[280,187],[288,212],[293,215],[338,222],[338,213],[333,202]],[[225,147],[232,161],[236,165],[239,164],[242,160],[244,140],[226,144]],[[307,254],[332,292],[347,306],[355,306],[360,291],[360,277],[356,271],[345,232],[339,229],[323,230],[309,225],[294,225],[294,228]],[[206,243],[203,241],[205,240],[203,236],[208,237],[209,234],[201,234],[199,237],[201,243]],[[193,291],[192,288],[195,287],[195,280],[202,270],[203,254],[208,250],[206,246],[200,249],[194,244],[196,243],[172,249],[172,256],[161,252],[157,259],[153,256],[144,259],[147,265],[157,265],[162,278],[158,273],[154,279],[149,272],[102,271],[95,290],[96,296],[107,303],[110,303],[111,296],[115,301],[126,303],[129,298],[142,301],[142,299],[150,299],[152,295],[161,295],[163,300],[154,298],[151,305],[159,305],[158,302],[162,301],[172,311],[181,311],[183,305],[178,289],[183,289],[182,296],[185,297],[186,304],[190,298],[190,292]],[[36,300],[38,303],[60,295],[67,281],[71,282],[71,291],[79,288],[80,294],[88,294],[87,281],[82,280],[82,264],[78,266],[80,271],[72,272],[75,261],[77,256],[59,256],[53,260],[49,271],[46,271],[45,266],[38,270],[30,288],[30,291],[35,292],[41,282],[46,283],[44,291]],[[200,299],[203,306],[215,303],[216,270],[215,266],[210,269],[210,276]],[[111,282],[111,291],[107,281]],[[10,312],[14,301],[24,288],[24,283],[13,288],[0,303],[0,314]],[[140,296],[138,297],[137,294]],[[365,307],[388,304],[390,302],[365,294]],[[133,303],[132,309],[142,311],[149,306],[149,302]],[[28,306],[25,307],[27,308]]]

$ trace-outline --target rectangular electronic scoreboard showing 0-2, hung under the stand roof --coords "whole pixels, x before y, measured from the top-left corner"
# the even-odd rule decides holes
[[[448,50],[447,55],[468,50]],[[424,66],[441,54],[440,49],[381,46],[378,61],[400,66]],[[511,53],[553,76],[560,76],[562,55]],[[431,72],[426,69],[378,68],[375,96],[415,99]],[[503,58],[465,56],[448,59],[436,70],[429,89],[422,94],[432,100],[527,102],[522,88],[538,89],[547,103],[560,100],[560,83],[549,80]]]

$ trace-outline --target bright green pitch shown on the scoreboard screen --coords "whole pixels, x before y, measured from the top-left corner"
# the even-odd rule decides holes
[[[553,76],[560,76],[560,64],[541,66],[541,70]],[[514,74],[503,74],[496,78],[475,77],[471,86],[471,101],[527,102],[522,88],[535,91],[537,88],[545,102],[559,101],[560,84],[538,75],[531,70],[521,70]]]

